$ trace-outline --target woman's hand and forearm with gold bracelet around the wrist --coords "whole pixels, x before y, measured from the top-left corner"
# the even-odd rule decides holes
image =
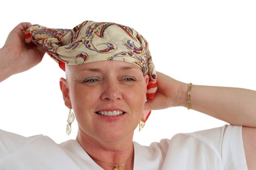
[[[145,109],[158,110],[187,104],[188,84],[157,72],[158,92],[154,100],[147,100]],[[224,120],[231,125],[256,127],[256,91],[193,85],[191,109]],[[232,116],[230,116],[232,115]]]

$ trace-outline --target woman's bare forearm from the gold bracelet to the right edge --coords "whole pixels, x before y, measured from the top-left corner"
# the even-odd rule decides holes
[[[193,85],[191,109],[232,125],[256,127],[256,91],[253,90]]]

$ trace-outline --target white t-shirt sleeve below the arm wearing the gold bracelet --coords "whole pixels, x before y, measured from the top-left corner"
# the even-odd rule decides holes
[[[247,169],[241,126],[225,125],[182,135],[194,137],[207,145],[220,157],[223,169]]]

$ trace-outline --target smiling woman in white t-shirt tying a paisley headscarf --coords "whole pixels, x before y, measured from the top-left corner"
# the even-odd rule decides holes
[[[1,169],[256,167],[253,161],[256,157],[255,91],[198,85],[192,87],[191,84],[188,86],[157,72],[158,86],[155,93],[156,77],[151,58],[148,57],[150,53],[147,51],[146,41],[135,30],[114,23],[85,21],[73,31],[56,32],[46,29],[51,36],[44,39],[40,28],[46,29],[41,26],[31,27],[30,23],[20,23],[9,34],[0,50],[0,80],[38,64],[46,48],[47,53],[66,70],[66,79],[60,79],[60,88],[65,105],[73,109],[77,119],[77,138],[56,144],[47,136],[26,138],[0,131]],[[100,29],[97,30],[98,28]],[[30,42],[32,36],[32,41],[37,45],[25,43],[26,30],[27,42]],[[120,34],[117,35],[117,32]],[[66,39],[68,46],[58,51],[56,48],[63,46],[63,42],[58,42],[65,39],[63,35],[70,37],[69,40]],[[79,35],[82,35],[81,41],[79,38],[71,41],[76,40]],[[86,39],[88,37],[90,41]],[[97,45],[102,45],[100,50]],[[131,47],[133,53],[119,53],[117,47],[123,45]],[[139,48],[140,45],[142,48]],[[90,51],[76,51],[81,46]],[[110,55],[113,57],[110,59],[108,54],[112,51],[115,55]],[[76,55],[71,55],[73,53]],[[148,60],[141,54],[147,54],[145,58]],[[92,61],[90,56],[104,59]],[[136,60],[130,61],[134,56]],[[163,139],[159,143],[152,143],[150,147],[133,142],[135,128],[138,124],[143,127],[143,118],[146,117],[142,114],[146,113],[143,110],[175,106],[191,108],[238,126],[180,134],[172,140]],[[68,133],[72,114],[70,119]],[[167,130],[165,133],[168,133]]]

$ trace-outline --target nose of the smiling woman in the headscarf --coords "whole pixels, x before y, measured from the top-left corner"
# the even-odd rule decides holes
[[[118,101],[122,99],[121,87],[118,81],[106,81],[102,88],[102,100]]]

